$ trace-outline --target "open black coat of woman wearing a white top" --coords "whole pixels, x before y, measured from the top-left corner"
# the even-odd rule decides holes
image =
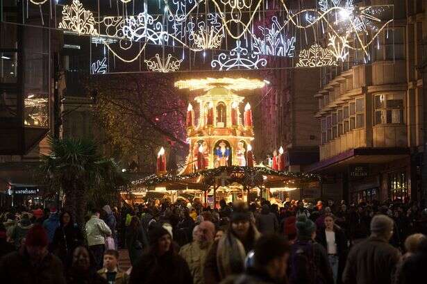
[[[337,256],[338,256],[338,275],[337,275],[337,283],[342,283],[342,272],[344,271],[344,267],[346,266],[346,259],[349,253],[349,247],[347,246],[347,237],[340,227],[335,226],[335,244],[337,244]],[[317,242],[321,244],[326,252],[328,251],[328,244],[326,244],[326,231],[321,230],[319,235],[317,235]]]

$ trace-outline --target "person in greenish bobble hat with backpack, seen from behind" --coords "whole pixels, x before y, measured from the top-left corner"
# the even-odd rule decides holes
[[[305,215],[296,217],[296,242],[292,244],[290,256],[290,284],[319,283],[333,284],[333,272],[328,253],[315,242],[316,225]]]

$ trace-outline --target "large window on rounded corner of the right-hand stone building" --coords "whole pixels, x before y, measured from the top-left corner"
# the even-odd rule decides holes
[[[378,94],[374,98],[374,124],[403,124],[403,94]]]

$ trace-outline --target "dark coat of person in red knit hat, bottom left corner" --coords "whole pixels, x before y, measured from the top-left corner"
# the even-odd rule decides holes
[[[1,258],[0,279],[1,283],[13,284],[65,284],[59,258],[48,253],[33,264],[24,247]]]

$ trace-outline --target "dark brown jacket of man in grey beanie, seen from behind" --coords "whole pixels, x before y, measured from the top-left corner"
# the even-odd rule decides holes
[[[371,236],[351,248],[342,281],[344,284],[390,284],[399,258],[399,251],[391,244]]]

